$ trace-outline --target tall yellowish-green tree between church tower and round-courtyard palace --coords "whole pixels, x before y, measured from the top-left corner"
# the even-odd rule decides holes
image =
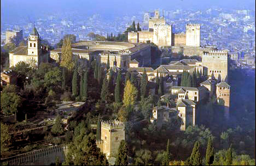
[[[61,48],[61,67],[66,67],[67,70],[70,72],[74,68],[74,62],[72,60],[72,51],[71,51],[71,39],[65,38],[63,41],[63,45]]]

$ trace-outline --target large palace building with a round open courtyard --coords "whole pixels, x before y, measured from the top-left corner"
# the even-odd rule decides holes
[[[130,62],[136,59],[140,66],[151,64],[150,45],[146,43],[126,43],[115,41],[79,41],[72,46],[73,55],[90,60],[92,57],[110,67],[115,64],[119,68],[129,68]],[[56,62],[61,61],[61,49],[51,50],[50,57]]]

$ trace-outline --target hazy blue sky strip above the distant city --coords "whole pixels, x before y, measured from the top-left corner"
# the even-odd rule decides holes
[[[34,20],[67,10],[75,10],[85,16],[101,14],[111,17],[157,8],[173,10],[210,7],[255,10],[255,0],[1,0],[1,23],[15,22],[20,19]]]

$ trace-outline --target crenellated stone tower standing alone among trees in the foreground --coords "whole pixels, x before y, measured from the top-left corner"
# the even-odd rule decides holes
[[[124,128],[118,120],[101,122],[101,141],[97,141],[97,146],[107,157],[117,155],[121,140],[125,140]]]

